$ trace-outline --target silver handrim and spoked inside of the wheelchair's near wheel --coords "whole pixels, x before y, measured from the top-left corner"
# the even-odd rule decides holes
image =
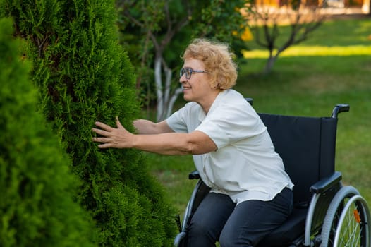
[[[354,195],[341,212],[334,246],[370,246],[370,211],[366,200]]]

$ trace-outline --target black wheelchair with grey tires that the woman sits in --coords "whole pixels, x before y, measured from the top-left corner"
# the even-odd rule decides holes
[[[252,99],[246,100],[253,104]],[[356,188],[343,185],[341,172],[334,169],[338,114],[349,109],[348,104],[336,104],[329,117],[258,113],[295,185],[293,212],[259,247],[371,246],[367,202]],[[183,224],[178,217],[176,247],[187,245],[190,218],[210,190],[197,171],[191,172],[189,179],[199,180]]]

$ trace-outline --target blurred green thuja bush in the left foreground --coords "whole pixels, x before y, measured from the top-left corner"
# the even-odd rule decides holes
[[[0,246],[97,246],[90,215],[73,200],[71,161],[36,112],[12,25],[0,19]]]

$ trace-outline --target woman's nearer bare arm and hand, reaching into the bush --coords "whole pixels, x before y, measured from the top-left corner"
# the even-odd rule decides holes
[[[212,139],[201,131],[155,134],[152,129],[150,135],[135,135],[126,131],[118,119],[116,119],[117,128],[112,128],[100,122],[96,122],[95,125],[99,128],[92,128],[92,131],[101,135],[101,137],[95,137],[93,141],[101,143],[98,145],[99,148],[135,148],[163,155],[201,155],[217,150],[217,145]],[[166,127],[162,127],[166,130]],[[150,128],[147,128],[147,131],[148,129]]]

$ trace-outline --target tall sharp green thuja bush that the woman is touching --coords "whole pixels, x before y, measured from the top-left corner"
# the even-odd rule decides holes
[[[0,0],[32,60],[39,109],[83,181],[78,201],[97,222],[101,246],[171,246],[174,209],[141,152],[99,150],[95,121],[129,131],[140,114],[135,75],[118,45],[111,0]]]

